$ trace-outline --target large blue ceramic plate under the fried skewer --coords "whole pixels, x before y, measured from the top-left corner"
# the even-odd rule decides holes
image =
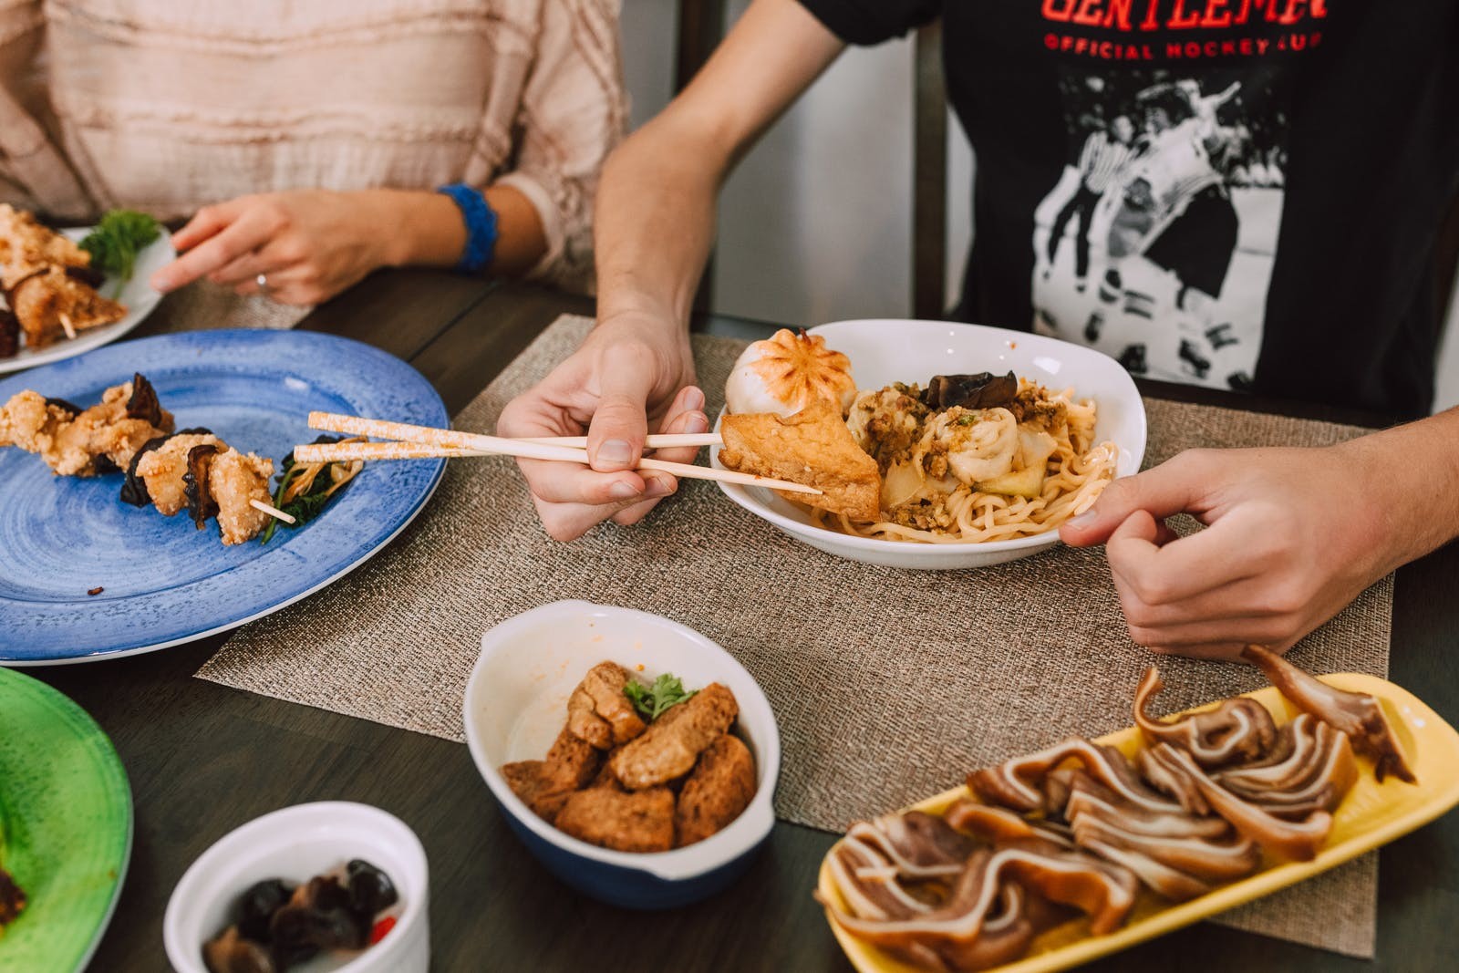
[[[89,406],[146,375],[178,427],[279,462],[318,433],[311,410],[444,427],[445,406],[397,357],[306,331],[196,331],[99,349],[0,382]],[[318,591],[416,516],[444,460],[369,464],[315,521],[225,547],[185,513],[118,499],[121,476],[54,477],[0,449],[0,665],[86,662],[231,629]],[[101,588],[96,595],[86,592]]]

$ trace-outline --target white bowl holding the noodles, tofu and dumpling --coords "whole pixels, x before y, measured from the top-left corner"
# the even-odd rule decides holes
[[[1139,470],[1145,457],[1145,406],[1129,373],[1115,359],[1055,338],[1023,331],[989,328],[950,321],[836,321],[811,328],[826,346],[851,357],[858,389],[883,388],[891,382],[925,385],[934,375],[1013,371],[1053,389],[1074,388],[1078,398],[1093,398],[1099,407],[1094,438],[1119,446],[1116,477]],[[709,462],[724,468],[719,449]],[[765,487],[719,483],[725,495],[770,524],[839,557],[916,570],[983,567],[1017,560],[1059,543],[1058,531],[1010,541],[982,544],[919,544],[874,537],[852,537],[829,531]]]

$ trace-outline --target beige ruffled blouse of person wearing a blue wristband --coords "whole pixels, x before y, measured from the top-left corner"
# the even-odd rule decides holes
[[[519,190],[588,290],[617,0],[0,0],[0,201],[160,219],[320,187]],[[388,232],[388,228],[384,228]]]

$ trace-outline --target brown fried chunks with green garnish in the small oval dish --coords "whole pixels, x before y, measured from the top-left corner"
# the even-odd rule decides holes
[[[588,670],[543,760],[502,776],[544,821],[620,852],[667,852],[727,827],[750,805],[756,767],[735,737],[740,708],[721,683],[686,691],[664,674],[643,686],[622,665]]]

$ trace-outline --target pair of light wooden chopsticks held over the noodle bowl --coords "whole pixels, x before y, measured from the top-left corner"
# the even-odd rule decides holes
[[[352,436],[371,436],[394,442],[355,442],[355,443],[311,443],[295,446],[293,458],[298,462],[349,462],[353,460],[432,460],[432,458],[464,458],[464,457],[518,457],[521,460],[549,460],[559,462],[581,462],[588,465],[587,436],[549,436],[541,439],[506,439],[502,436],[486,436],[473,432],[457,432],[454,429],[432,429],[429,426],[411,426],[407,423],[385,422],[381,419],[365,419],[362,416],[341,416],[338,413],[309,413],[309,429],[324,432],[341,432]],[[649,436],[645,446],[649,449],[665,449],[673,446],[716,446],[721,445],[718,433],[678,433]],[[770,487],[788,493],[820,493],[816,487],[788,480],[759,477],[753,473],[738,473],[735,470],[715,470],[713,467],[699,467],[690,462],[667,462],[643,457],[638,461],[639,470],[659,470],[676,477],[692,480],[719,480],[722,483],[743,483],[746,486]]]

